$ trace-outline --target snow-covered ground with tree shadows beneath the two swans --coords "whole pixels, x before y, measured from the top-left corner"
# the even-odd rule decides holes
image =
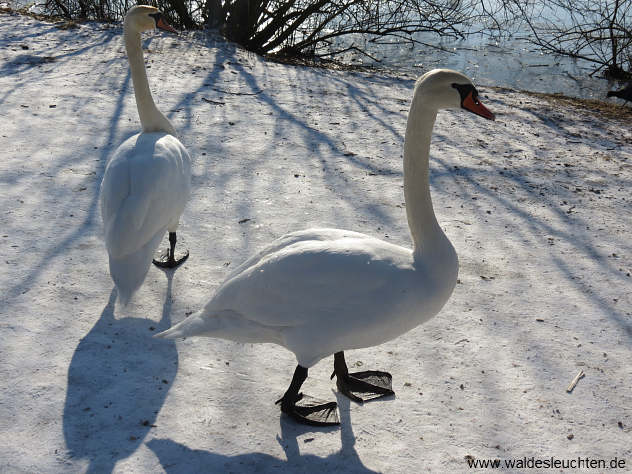
[[[97,205],[108,156],[139,129],[121,29],[0,14],[0,472],[630,468],[629,119],[489,87],[496,122],[441,112],[431,186],[460,284],[427,324],[347,353],[390,371],[395,397],[350,403],[332,360],[314,367],[305,392],[337,400],[342,422],[314,429],[274,405],[295,366],[284,349],[151,336],[286,232],[408,245],[414,81],[269,63],[200,35],[144,44],[154,96],[195,160],[178,234],[191,257],[152,268],[121,308]]]

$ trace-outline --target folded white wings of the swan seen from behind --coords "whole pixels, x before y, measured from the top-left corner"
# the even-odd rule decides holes
[[[125,141],[101,184],[106,244],[116,258],[134,253],[177,222],[189,198],[191,165],[171,135],[140,134]]]

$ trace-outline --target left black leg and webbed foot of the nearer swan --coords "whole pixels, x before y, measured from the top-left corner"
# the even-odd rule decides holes
[[[339,425],[336,402],[322,402],[299,393],[305,379],[307,379],[307,368],[297,365],[289,388],[283,398],[276,402],[277,404],[281,403],[281,411],[305,425]],[[297,405],[296,403],[299,401],[302,403]]]

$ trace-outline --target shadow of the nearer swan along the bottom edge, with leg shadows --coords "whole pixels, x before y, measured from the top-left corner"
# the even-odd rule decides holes
[[[355,450],[355,436],[351,427],[350,401],[336,393],[341,426],[312,427],[299,425],[289,417],[280,419],[281,435],[277,441],[285,452],[286,460],[262,452],[235,456],[216,454],[201,449],[190,449],[170,439],[155,438],[146,443],[158,457],[167,474],[185,472],[352,472],[375,473],[367,468]],[[326,457],[301,454],[298,437],[305,433],[328,433],[340,429],[340,449]]]

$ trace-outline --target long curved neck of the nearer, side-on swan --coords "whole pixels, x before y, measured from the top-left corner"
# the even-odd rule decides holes
[[[404,143],[404,197],[415,260],[443,254],[452,244],[443,233],[432,208],[429,155],[437,111],[413,100],[408,114]],[[453,249],[452,249],[453,251]]]

